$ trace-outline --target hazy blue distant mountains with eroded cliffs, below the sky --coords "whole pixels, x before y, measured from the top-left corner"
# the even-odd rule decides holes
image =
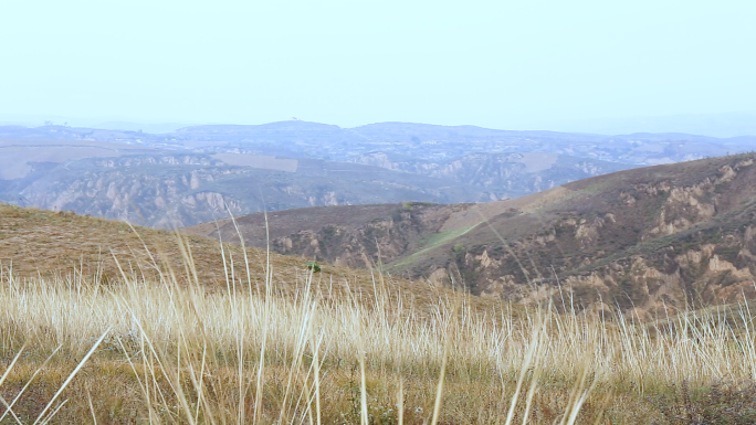
[[[598,136],[301,120],[168,132],[0,126],[0,200],[156,227],[318,205],[517,198],[634,167],[756,148],[756,137]]]

